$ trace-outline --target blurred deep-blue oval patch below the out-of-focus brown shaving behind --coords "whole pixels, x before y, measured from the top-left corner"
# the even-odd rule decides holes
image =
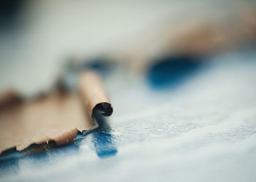
[[[176,87],[197,71],[202,60],[189,55],[169,55],[154,61],[148,69],[148,82],[156,89]]]

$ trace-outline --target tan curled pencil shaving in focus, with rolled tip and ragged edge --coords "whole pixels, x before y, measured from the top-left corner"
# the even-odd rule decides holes
[[[0,154],[13,147],[22,151],[31,143],[55,141],[57,146],[72,143],[78,131],[97,126],[92,119],[95,109],[105,116],[112,114],[99,76],[89,71],[80,81],[82,98],[72,93],[52,94],[0,112]],[[105,103],[108,107],[102,108]]]

